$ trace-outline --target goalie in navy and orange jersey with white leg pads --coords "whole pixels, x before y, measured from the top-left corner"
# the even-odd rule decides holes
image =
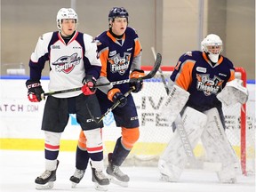
[[[174,134],[160,156],[158,168],[162,180],[179,180],[188,160],[195,163],[193,148],[201,139],[207,161],[220,164],[216,171],[220,182],[235,183],[238,160],[224,132],[222,105],[244,104],[248,91],[242,81],[235,79],[232,62],[221,55],[220,36],[206,36],[201,46],[202,52],[183,54],[170,77],[162,116],[174,122]]]

